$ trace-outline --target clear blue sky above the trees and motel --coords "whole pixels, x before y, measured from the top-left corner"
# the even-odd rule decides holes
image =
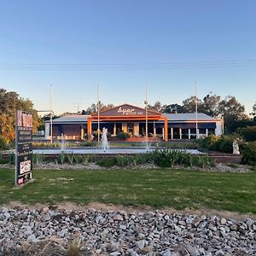
[[[3,0],[0,64],[143,64],[256,60],[256,1]],[[254,62],[255,63],[255,62]],[[218,66],[218,65],[217,65]],[[97,66],[96,66],[97,67]],[[88,108],[96,84],[104,103],[181,103],[194,93],[256,102],[256,65],[138,70],[16,70],[0,87],[55,113]]]

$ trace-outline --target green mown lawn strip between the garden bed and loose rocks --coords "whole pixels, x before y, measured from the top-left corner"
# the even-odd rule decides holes
[[[216,209],[256,213],[256,172],[197,172],[171,169],[36,170],[35,181],[14,189],[15,171],[0,169],[0,204],[72,201],[116,205]]]

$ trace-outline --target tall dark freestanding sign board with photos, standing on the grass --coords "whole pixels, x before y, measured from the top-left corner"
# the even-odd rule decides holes
[[[16,111],[15,185],[32,178],[32,114]]]

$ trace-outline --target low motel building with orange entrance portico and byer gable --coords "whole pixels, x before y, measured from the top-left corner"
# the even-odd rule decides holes
[[[65,115],[53,119],[53,138],[60,139],[61,134],[66,140],[81,140],[84,136],[93,139],[98,128],[105,127],[116,137],[120,131],[131,133],[132,137],[143,137],[146,131],[146,119],[148,119],[148,134],[159,137],[164,141],[173,139],[192,139],[196,137],[195,113],[158,113],[145,108],[139,108],[130,104],[123,104],[108,110],[91,115]],[[223,133],[223,119],[214,119],[205,113],[197,113],[197,127],[200,137],[210,134],[221,135]],[[50,138],[50,122],[45,122],[45,139]]]

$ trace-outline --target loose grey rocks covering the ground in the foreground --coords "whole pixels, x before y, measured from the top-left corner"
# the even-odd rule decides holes
[[[0,255],[255,255],[256,220],[0,207]]]

